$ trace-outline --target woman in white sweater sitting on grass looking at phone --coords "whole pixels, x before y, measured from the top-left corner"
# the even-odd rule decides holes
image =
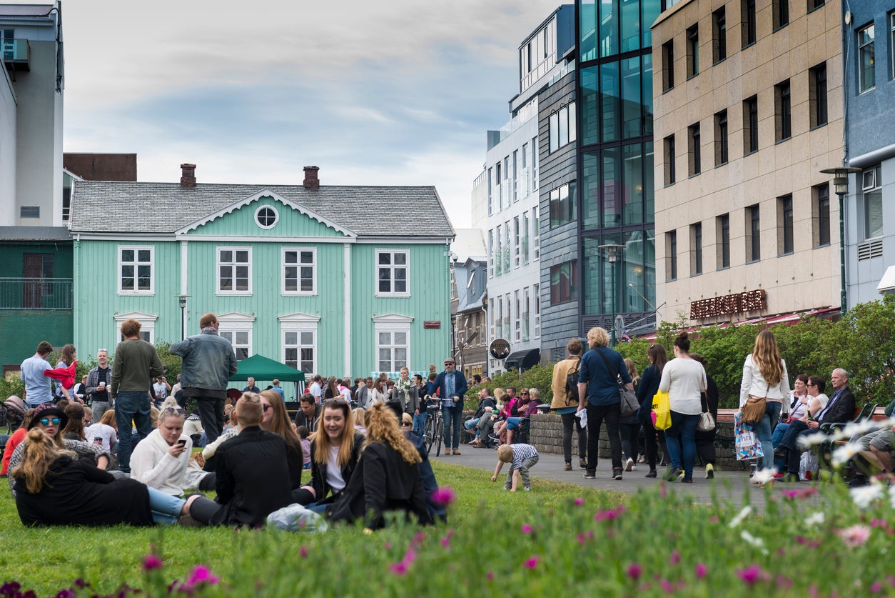
[[[168,397],[158,414],[158,428],[141,440],[131,455],[131,477],[156,490],[182,496],[191,488],[214,490],[215,474],[190,459],[192,439],[183,434],[186,412]]]

